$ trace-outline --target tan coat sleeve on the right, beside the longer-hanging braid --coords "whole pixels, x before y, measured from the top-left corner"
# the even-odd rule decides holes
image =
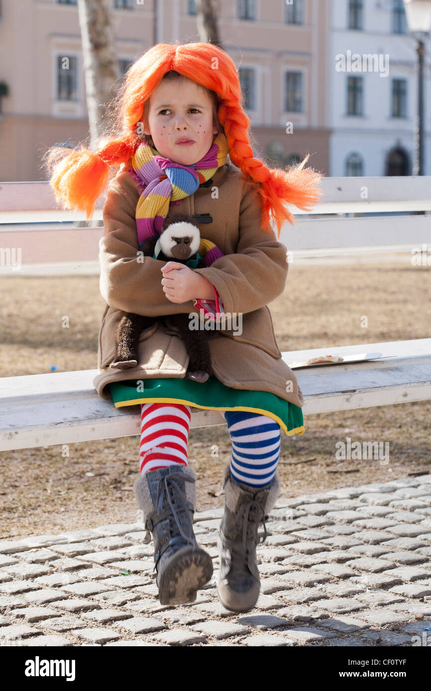
[[[214,285],[226,312],[253,312],[275,300],[286,285],[286,247],[275,232],[260,229],[262,206],[244,185],[239,207],[239,242],[235,254],[219,257],[210,267],[194,269]]]

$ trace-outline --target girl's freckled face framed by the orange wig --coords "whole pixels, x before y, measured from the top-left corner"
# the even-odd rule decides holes
[[[149,103],[148,126],[144,132],[152,136],[157,151],[185,166],[201,160],[217,134],[212,101],[203,88],[190,79],[161,82]],[[178,140],[183,139],[193,143],[179,144]]]

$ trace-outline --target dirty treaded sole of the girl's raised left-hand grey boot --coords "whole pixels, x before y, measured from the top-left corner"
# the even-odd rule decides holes
[[[196,591],[212,576],[212,559],[203,549],[178,549],[163,566],[158,597],[161,605],[183,605],[196,600]]]

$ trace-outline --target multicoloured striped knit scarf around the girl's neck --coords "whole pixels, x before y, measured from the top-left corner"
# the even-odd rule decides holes
[[[210,180],[217,169],[226,163],[228,153],[228,142],[222,132],[215,136],[205,156],[190,166],[163,158],[149,144],[138,146],[131,162],[134,178],[144,187],[139,190],[140,198],[136,207],[139,247],[148,238],[160,235],[169,214],[169,205],[190,196],[202,182]],[[217,245],[210,240],[201,240],[198,252],[205,255],[207,266],[223,256]]]

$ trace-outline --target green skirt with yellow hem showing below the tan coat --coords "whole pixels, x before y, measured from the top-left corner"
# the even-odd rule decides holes
[[[204,410],[247,410],[275,420],[289,437],[304,434],[302,408],[268,391],[235,389],[212,375],[203,384],[192,379],[129,379],[108,384],[116,408],[141,403],[182,403]]]

